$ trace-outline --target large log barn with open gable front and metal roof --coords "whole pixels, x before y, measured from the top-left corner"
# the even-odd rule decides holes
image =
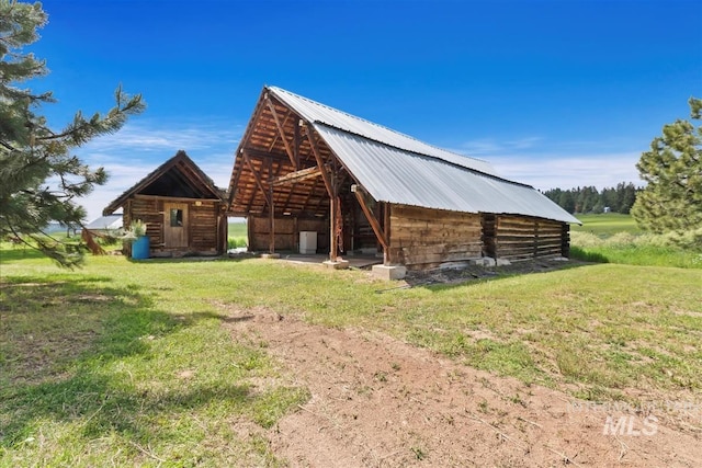
[[[236,151],[230,215],[251,250],[378,252],[428,270],[491,258],[568,256],[579,222],[487,161],[456,155],[275,87]],[[305,246],[301,246],[304,242]]]

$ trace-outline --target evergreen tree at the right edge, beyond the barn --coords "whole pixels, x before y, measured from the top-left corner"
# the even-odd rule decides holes
[[[702,100],[689,104],[699,121]],[[702,127],[682,119],[665,125],[636,168],[648,182],[631,210],[639,226],[654,232],[702,228]]]

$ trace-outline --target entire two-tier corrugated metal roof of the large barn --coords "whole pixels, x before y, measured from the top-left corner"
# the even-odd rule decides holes
[[[487,161],[427,145],[280,88],[268,90],[313,123],[378,202],[581,224],[532,186],[499,178]]]

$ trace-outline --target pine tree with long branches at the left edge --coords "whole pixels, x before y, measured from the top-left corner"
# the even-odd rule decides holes
[[[145,104],[140,95],[117,88],[116,104],[105,115],[87,118],[79,111],[63,129],[49,128],[39,111],[55,101],[53,94],[21,87],[47,73],[44,60],[23,53],[46,22],[38,2],[0,0],[0,239],[21,239],[70,267],[82,261],[82,246],[56,241],[42,230],[50,220],[82,226],[86,212],[77,198],[107,180],[103,168],[89,168],[71,150],[117,132]]]

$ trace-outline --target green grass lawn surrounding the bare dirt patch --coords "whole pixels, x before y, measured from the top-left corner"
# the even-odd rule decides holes
[[[307,389],[267,343],[235,344],[219,304],[381,331],[584,398],[702,401],[700,270],[598,264],[390,289],[259,259],[100,256],[66,272],[0,253],[0,466],[284,464],[263,434]]]

